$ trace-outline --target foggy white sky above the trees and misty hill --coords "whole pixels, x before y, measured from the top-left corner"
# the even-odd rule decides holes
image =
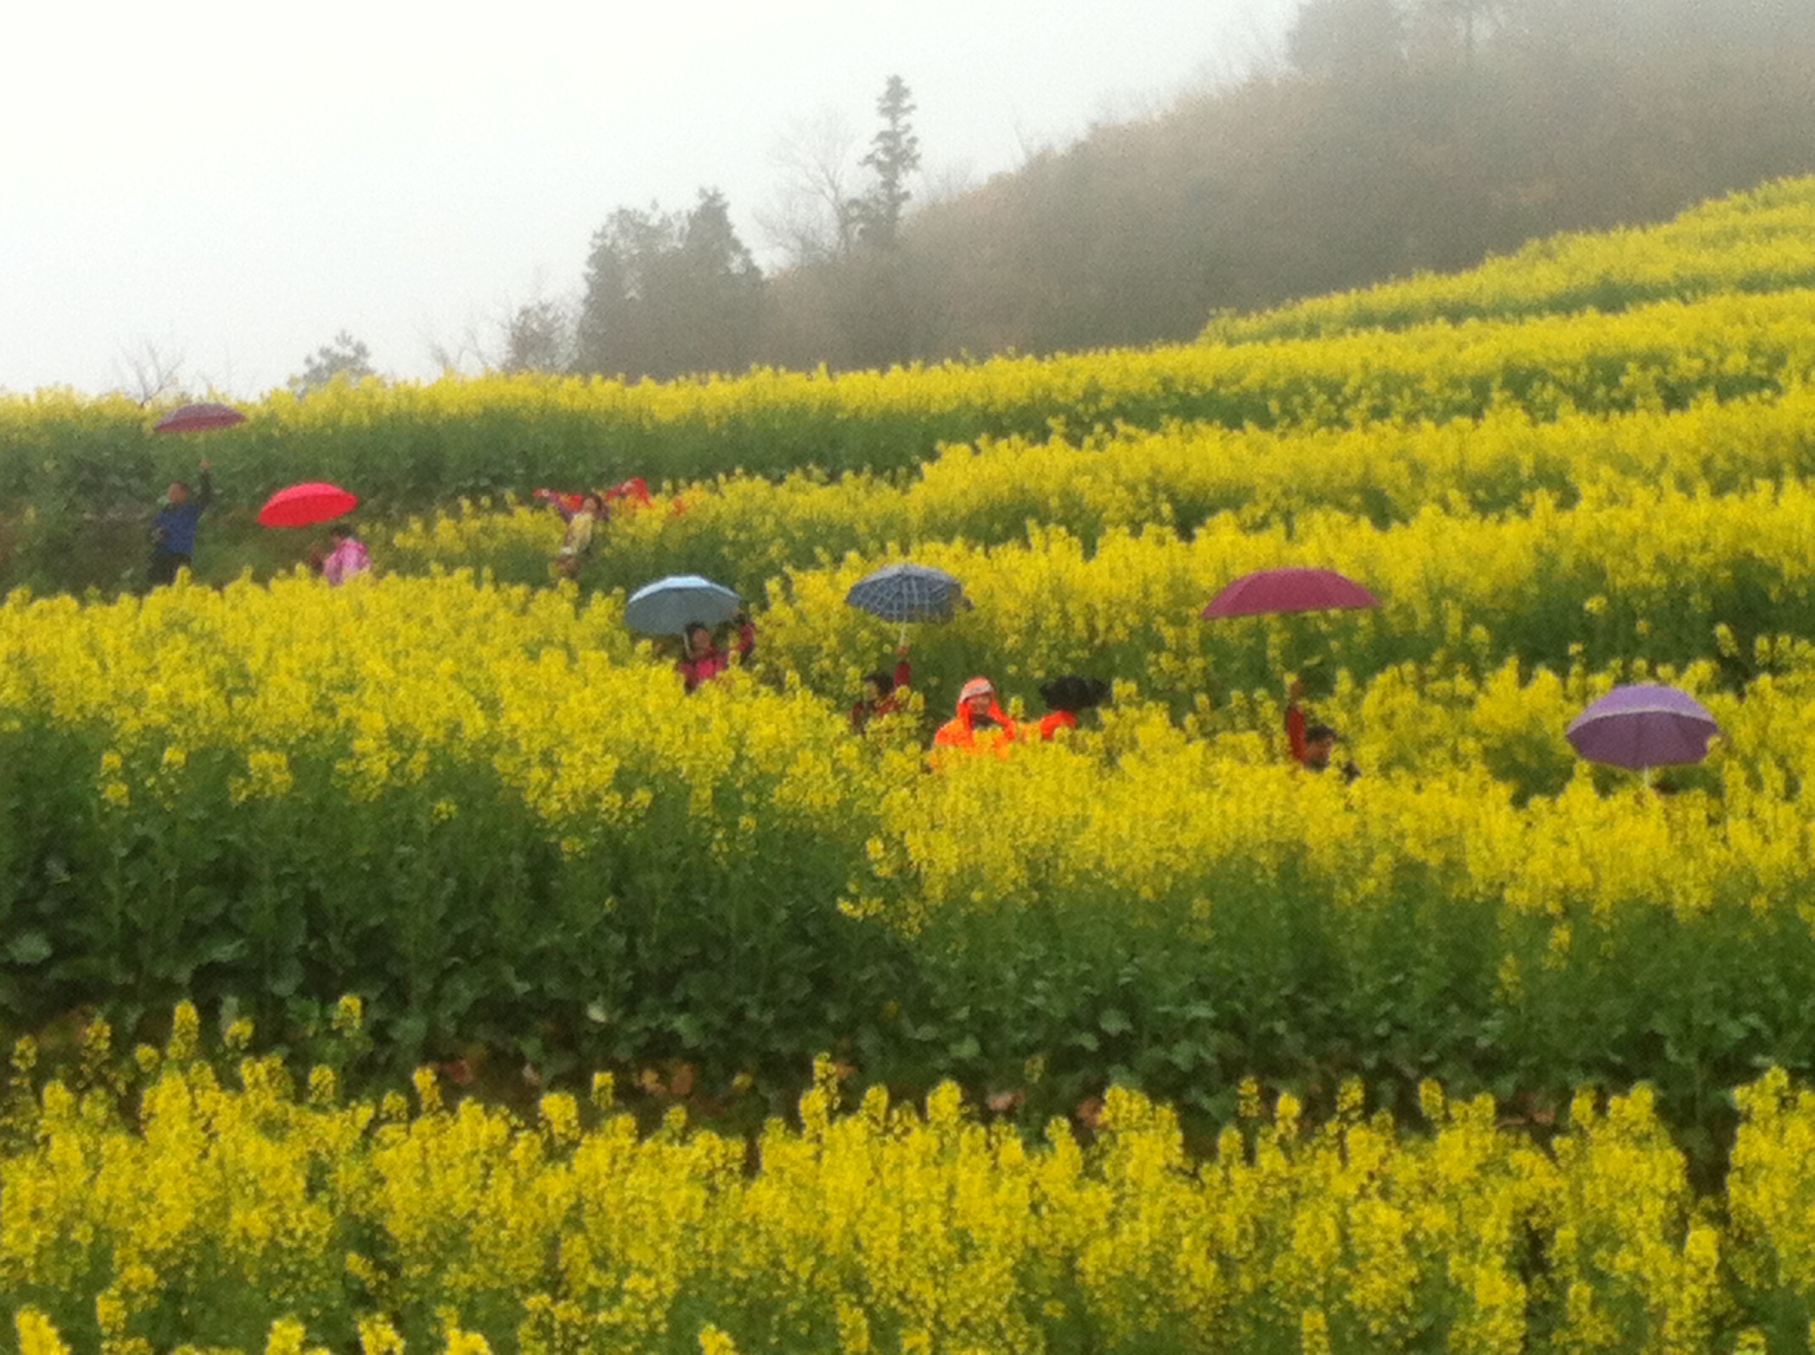
[[[347,328],[392,375],[575,294],[621,205],[721,187],[760,254],[791,125],[980,181],[1278,51],[1296,0],[0,4],[0,390],[127,352],[256,395]]]

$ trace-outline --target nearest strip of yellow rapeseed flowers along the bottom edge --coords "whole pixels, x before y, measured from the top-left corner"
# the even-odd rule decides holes
[[[1741,1092],[1726,1221],[1644,1090],[1579,1097],[1541,1150],[1488,1097],[1427,1085],[1407,1130],[1350,1083],[1316,1128],[1252,1097],[1192,1155],[1138,1092],[1029,1141],[951,1085],[839,1110],[822,1063],[746,1152],[679,1114],[643,1136],[608,1085],[530,1117],[432,1070],[414,1105],[298,1099],[176,1027],[136,1125],[107,1085],[15,1083],[20,1350],[1699,1351],[1810,1284],[1815,1103],[1782,1072]]]

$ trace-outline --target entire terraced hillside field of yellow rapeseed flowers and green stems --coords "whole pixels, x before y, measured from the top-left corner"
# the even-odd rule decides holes
[[[376,577],[0,602],[16,1348],[1802,1348],[1811,203],[1187,346],[270,395],[223,486],[358,484]],[[0,399],[33,577],[142,424]],[[630,473],[557,579],[528,490]],[[857,729],[904,559],[975,606]],[[1200,619],[1278,564],[1381,606]],[[668,573],[757,622],[692,695]],[[975,675],[1016,736],[929,758]],[[1575,756],[1643,680],[1704,762]]]

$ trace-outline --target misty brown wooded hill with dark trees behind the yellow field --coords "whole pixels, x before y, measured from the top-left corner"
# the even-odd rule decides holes
[[[1189,339],[1223,308],[1815,171],[1810,69],[1810,0],[1303,0],[1278,69],[918,205],[893,76],[855,167],[791,147],[771,272],[713,189],[623,207],[584,296],[519,307],[497,365],[675,377]]]

